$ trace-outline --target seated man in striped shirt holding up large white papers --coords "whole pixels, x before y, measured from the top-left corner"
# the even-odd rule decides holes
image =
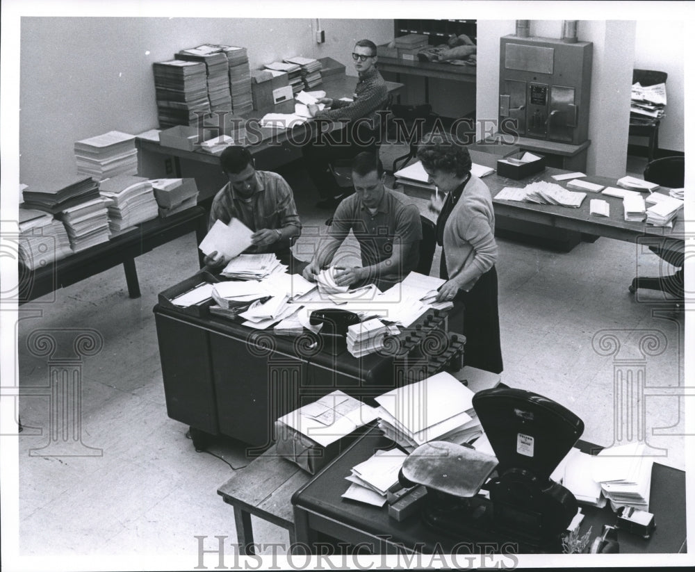
[[[300,236],[302,223],[285,179],[270,171],[256,171],[249,150],[238,145],[224,149],[220,165],[229,183],[213,199],[208,227],[212,228],[218,220],[229,225],[237,219],[243,223],[238,225],[241,231],[248,232],[244,226],[252,231],[250,246],[243,244],[243,252],[274,252],[281,263],[290,267],[290,272],[302,272],[306,263],[295,259],[290,251],[291,241]],[[239,240],[245,238],[248,237],[240,232]],[[215,250],[206,255],[204,262],[209,268],[218,269],[229,258]]]

